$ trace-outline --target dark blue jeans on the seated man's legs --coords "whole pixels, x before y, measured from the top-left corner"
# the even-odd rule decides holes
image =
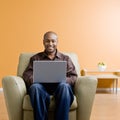
[[[72,87],[67,83],[32,84],[29,89],[35,120],[48,120],[50,95],[56,102],[55,120],[69,120],[69,108],[74,100]]]

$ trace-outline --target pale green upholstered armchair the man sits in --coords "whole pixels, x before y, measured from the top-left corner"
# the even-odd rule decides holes
[[[17,76],[5,76],[2,79],[5,103],[9,120],[33,120],[33,109],[27,95],[22,74],[28,65],[29,59],[35,53],[22,53],[19,57]],[[80,76],[78,58],[75,53],[65,53],[73,61],[78,79],[75,83],[74,101],[69,111],[70,120],[90,120],[93,101],[96,93],[97,79],[94,77]],[[49,107],[49,120],[53,120],[55,102],[51,96]]]

